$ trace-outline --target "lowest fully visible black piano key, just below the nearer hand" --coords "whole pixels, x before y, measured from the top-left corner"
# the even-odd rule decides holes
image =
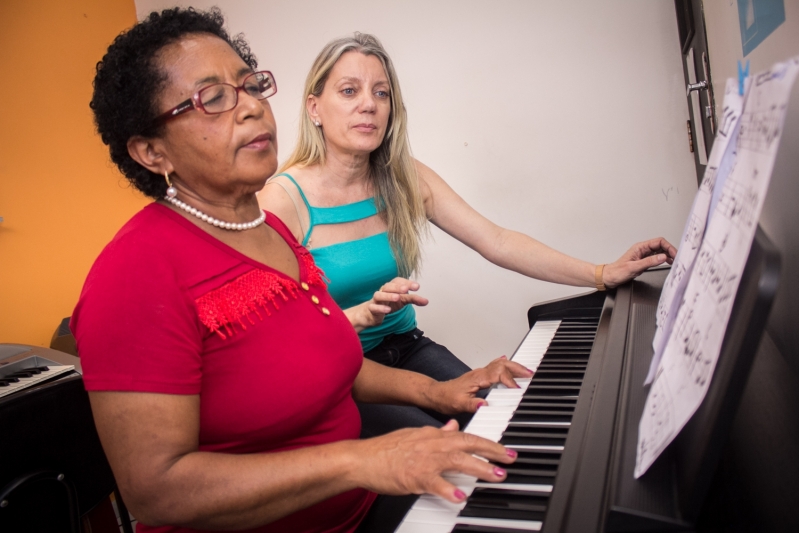
[[[541,521],[548,500],[548,493],[477,488],[458,516]]]

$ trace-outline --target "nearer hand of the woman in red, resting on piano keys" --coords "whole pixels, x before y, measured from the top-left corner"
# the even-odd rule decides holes
[[[407,428],[358,441],[358,468],[352,472],[356,486],[379,494],[435,494],[453,503],[466,494],[442,477],[461,472],[483,481],[507,476],[489,461],[512,463],[516,452],[490,440],[458,431],[450,420],[441,429]]]

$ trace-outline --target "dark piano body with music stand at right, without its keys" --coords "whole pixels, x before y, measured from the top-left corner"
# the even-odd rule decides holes
[[[779,267],[780,254],[758,229],[707,397],[677,439],[638,480],[633,477],[638,423],[649,390],[643,382],[653,354],[655,311],[668,270],[646,272],[607,295],[591,293],[530,309],[531,327],[537,320],[601,310],[542,531],[767,530],[757,527],[757,510],[747,513],[735,508],[751,506],[755,499],[748,498],[747,487],[740,486],[747,483],[745,479],[731,487],[740,476],[725,454],[730,453],[731,433],[746,433],[736,427],[741,424],[736,419],[741,398],[760,394],[747,389],[747,382],[776,294]],[[794,429],[799,425],[797,418],[783,422]],[[786,483],[792,482],[781,480],[781,485]],[[769,531],[799,530],[795,509],[770,518],[777,529]]]

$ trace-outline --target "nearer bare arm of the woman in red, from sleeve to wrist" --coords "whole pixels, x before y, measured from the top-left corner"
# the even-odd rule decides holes
[[[117,484],[148,525],[248,529],[359,486],[347,475],[358,464],[358,441],[276,453],[202,452],[199,396],[89,398]]]

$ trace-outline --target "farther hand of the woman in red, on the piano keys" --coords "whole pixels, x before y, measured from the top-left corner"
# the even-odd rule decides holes
[[[480,406],[488,404],[476,396],[480,389],[488,388],[494,383],[516,389],[519,386],[513,378],[530,378],[532,375],[532,370],[509,361],[503,355],[491,361],[488,366],[467,372],[459,378],[432,383],[425,395],[430,401],[430,407],[439,413],[474,413]]]

